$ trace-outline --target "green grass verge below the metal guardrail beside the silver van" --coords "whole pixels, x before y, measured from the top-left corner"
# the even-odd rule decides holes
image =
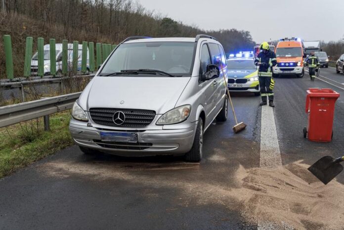
[[[50,131],[43,118],[0,129],[0,178],[54,152],[73,145],[68,131],[70,112],[50,116]]]

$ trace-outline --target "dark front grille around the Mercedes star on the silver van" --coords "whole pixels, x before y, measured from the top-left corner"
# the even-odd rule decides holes
[[[114,121],[117,112],[122,112],[125,116],[122,124]],[[144,109],[90,108],[89,114],[92,121],[99,125],[132,128],[148,126],[155,117],[155,111]]]

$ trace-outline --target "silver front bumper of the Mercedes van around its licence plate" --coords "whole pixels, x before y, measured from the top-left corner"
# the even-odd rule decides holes
[[[87,127],[86,122],[71,119],[69,130],[74,142],[82,147],[110,153],[118,156],[156,156],[183,155],[190,151],[198,122],[192,123],[185,129],[173,130],[145,130],[145,131],[106,131],[94,127]],[[135,132],[137,143],[102,141],[100,132]]]

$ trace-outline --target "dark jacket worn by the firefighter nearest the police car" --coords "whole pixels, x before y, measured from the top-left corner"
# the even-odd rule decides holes
[[[272,77],[272,66],[277,65],[276,54],[270,50],[266,54],[260,52],[255,60],[256,66],[258,62],[265,64],[259,66],[258,77]]]

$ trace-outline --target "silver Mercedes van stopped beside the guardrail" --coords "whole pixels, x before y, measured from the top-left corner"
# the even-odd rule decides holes
[[[129,37],[75,102],[69,130],[86,154],[199,162],[204,132],[227,119],[223,74],[226,58],[214,37]]]

